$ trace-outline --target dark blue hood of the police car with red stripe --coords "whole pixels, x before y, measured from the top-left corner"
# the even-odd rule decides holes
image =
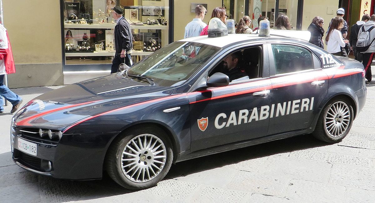
[[[173,88],[112,74],[49,91],[29,101],[13,118],[15,125],[62,130],[88,116],[158,99]]]

